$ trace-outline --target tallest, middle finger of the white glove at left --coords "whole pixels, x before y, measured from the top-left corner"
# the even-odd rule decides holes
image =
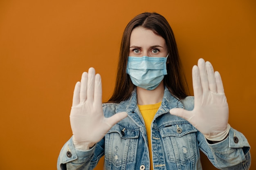
[[[89,68],[88,70],[88,86],[87,86],[87,99],[94,99],[94,79],[95,79],[95,70],[94,68]]]

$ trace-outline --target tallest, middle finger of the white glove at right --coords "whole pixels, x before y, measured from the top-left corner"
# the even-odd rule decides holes
[[[209,91],[208,76],[207,76],[204,59],[200,58],[198,60],[198,68],[199,68],[199,73],[200,73],[202,91],[203,92]]]

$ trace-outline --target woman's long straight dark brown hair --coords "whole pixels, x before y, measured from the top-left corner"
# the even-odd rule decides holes
[[[171,26],[162,15],[146,12],[133,18],[124,30],[120,46],[115,90],[108,102],[119,103],[128,99],[136,87],[132,84],[130,76],[126,73],[126,66],[129,55],[130,35],[132,30],[138,26],[149,29],[164,38],[169,53],[166,64],[167,75],[164,76],[164,85],[172,95],[183,99],[187,96],[186,92],[188,92],[188,86]]]

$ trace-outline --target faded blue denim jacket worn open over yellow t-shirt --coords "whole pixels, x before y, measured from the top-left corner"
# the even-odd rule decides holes
[[[165,88],[162,104],[151,124],[151,134],[146,134],[136,90],[119,104],[103,104],[105,117],[123,111],[128,117],[113,126],[90,150],[74,148],[71,137],[58,157],[58,170],[92,170],[103,155],[105,170],[149,170],[147,135],[151,136],[154,170],[202,170],[200,150],[218,169],[248,170],[250,146],[242,133],[230,128],[225,140],[209,144],[188,121],[169,113],[171,108],[193,110],[193,100],[191,96],[179,100]]]

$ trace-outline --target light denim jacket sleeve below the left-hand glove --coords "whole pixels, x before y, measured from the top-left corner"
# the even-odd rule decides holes
[[[104,155],[104,143],[102,139],[90,150],[77,150],[71,137],[58,156],[57,170],[92,170]]]

